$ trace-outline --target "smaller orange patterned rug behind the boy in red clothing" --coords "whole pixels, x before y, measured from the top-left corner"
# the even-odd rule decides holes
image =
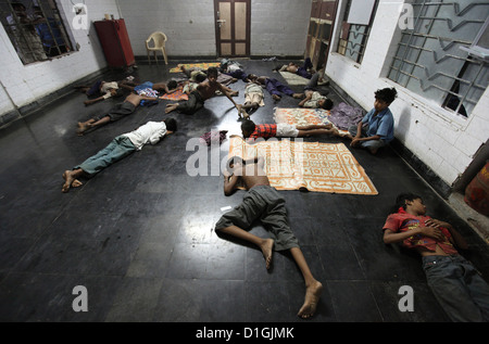
[[[275,107],[275,123],[288,123],[297,126],[306,126],[312,124],[328,124],[334,127],[335,124],[329,120],[329,111],[322,109],[303,109],[303,107]],[[338,129],[338,128],[337,128]],[[348,130],[339,130],[340,136],[348,133]]]

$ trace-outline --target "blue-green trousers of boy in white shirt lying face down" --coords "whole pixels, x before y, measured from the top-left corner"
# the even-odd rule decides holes
[[[95,175],[112,165],[113,163],[126,157],[136,151],[133,142],[126,136],[118,136],[111,141],[103,150],[96,155],[90,156],[80,165],[74,168],[82,168],[88,175]]]

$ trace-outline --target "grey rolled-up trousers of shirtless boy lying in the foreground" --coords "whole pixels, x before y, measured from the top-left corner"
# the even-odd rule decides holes
[[[215,225],[215,230],[229,226],[248,229],[256,219],[261,220],[271,238],[274,239],[275,251],[299,247],[299,241],[289,226],[285,200],[275,188],[269,186],[251,188],[240,205],[221,217]]]

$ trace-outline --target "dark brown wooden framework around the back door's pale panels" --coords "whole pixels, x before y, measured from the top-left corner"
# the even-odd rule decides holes
[[[220,2],[229,2],[230,3],[230,16],[231,16],[231,28],[230,28],[230,34],[231,34],[231,38],[230,39],[221,39],[221,31],[220,31],[220,26],[218,26],[218,4]],[[235,38],[235,33],[236,33],[236,27],[235,27],[235,3],[236,2],[244,2],[247,4],[247,28],[246,28],[246,39],[244,40],[236,40]],[[251,0],[214,0],[214,27],[215,27],[215,43],[216,43],[216,53],[217,56],[223,56],[222,55],[222,51],[221,51],[221,43],[225,43],[225,42],[229,42],[231,43],[231,54],[230,55],[226,55],[227,58],[249,58],[250,56],[250,43],[251,43]],[[244,55],[236,55],[236,51],[235,51],[235,44],[236,42],[244,42],[246,43],[246,53]]]

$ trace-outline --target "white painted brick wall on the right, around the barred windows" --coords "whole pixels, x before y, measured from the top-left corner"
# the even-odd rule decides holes
[[[341,2],[344,4],[344,0]],[[373,107],[377,89],[396,87],[398,99],[390,105],[396,137],[452,186],[489,138],[489,91],[486,89],[469,117],[464,119],[385,78],[391,48],[398,42],[400,3],[401,0],[380,0],[362,64],[333,52],[326,74],[365,110]],[[331,47],[337,46],[338,33],[336,26]]]

